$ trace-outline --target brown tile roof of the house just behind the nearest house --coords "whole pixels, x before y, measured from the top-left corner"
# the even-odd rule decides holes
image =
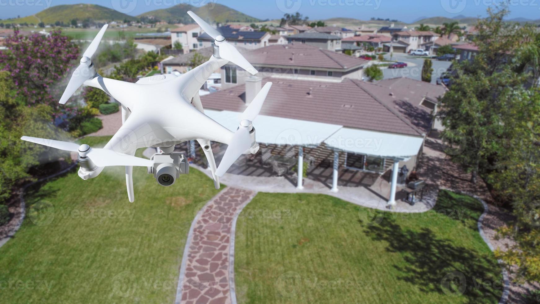
[[[269,45],[249,51],[244,57],[259,66],[306,66],[325,69],[352,69],[367,62],[364,59],[301,43]]]

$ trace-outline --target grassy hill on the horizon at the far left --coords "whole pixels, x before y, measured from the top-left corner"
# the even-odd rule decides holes
[[[92,19],[94,21],[123,21],[136,20],[133,16],[126,15],[125,13],[118,12],[116,10],[106,8],[105,6],[96,4],[66,4],[51,6],[50,8],[36,13],[36,15],[27,16],[17,19],[9,19],[6,22],[13,23],[39,23],[53,24],[57,21],[63,21],[64,23],[70,23],[72,19],[78,19],[83,21],[84,19]]]

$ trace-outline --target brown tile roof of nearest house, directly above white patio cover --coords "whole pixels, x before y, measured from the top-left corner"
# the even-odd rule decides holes
[[[340,83],[311,80],[264,78],[272,81],[261,114],[316,121],[357,129],[421,136],[422,131],[395,109],[363,89],[360,80]],[[245,85],[201,96],[205,109],[242,112],[246,104]]]

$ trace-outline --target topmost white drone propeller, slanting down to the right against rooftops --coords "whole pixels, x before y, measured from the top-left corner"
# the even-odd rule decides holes
[[[201,19],[194,12],[188,11],[187,13],[208,35],[210,35],[210,37],[214,38],[215,45],[219,46],[219,57],[229,60],[253,75],[258,73],[257,69],[255,69],[232,44],[228,43],[218,30],[212,28],[210,24],[206,23],[206,21]]]

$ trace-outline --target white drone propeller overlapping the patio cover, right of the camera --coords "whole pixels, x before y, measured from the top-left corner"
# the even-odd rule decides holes
[[[252,141],[249,132],[252,131],[252,121],[259,115],[262,104],[265,102],[266,96],[272,86],[271,82],[267,82],[261,91],[253,98],[252,102],[247,106],[247,109],[240,116],[240,126],[238,130],[234,132],[231,142],[225,150],[225,154],[219,163],[218,170],[215,171],[215,175],[222,177],[225,172],[232,166],[242,154],[251,147]]]

